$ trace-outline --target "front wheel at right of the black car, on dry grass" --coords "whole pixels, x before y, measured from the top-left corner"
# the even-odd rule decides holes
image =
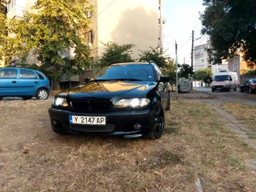
[[[158,101],[156,108],[155,108],[155,125],[153,133],[150,133],[148,137],[150,139],[159,139],[162,134],[164,133],[165,128],[165,113],[161,102]]]

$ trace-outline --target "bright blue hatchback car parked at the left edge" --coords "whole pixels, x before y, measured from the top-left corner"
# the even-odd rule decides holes
[[[22,97],[29,100],[47,100],[50,92],[47,76],[35,69],[0,69],[0,100],[4,97]]]

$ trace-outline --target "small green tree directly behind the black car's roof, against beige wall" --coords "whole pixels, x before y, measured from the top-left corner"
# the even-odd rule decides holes
[[[105,52],[102,53],[101,59],[99,59],[96,66],[98,68],[102,68],[107,66],[110,63],[115,62],[133,62],[132,54],[133,51],[131,50],[135,46],[133,44],[123,44],[118,45],[112,41],[107,43],[101,42],[106,48]]]

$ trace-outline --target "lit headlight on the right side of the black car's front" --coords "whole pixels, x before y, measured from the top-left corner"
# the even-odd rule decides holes
[[[147,98],[133,98],[133,99],[122,99],[114,104],[115,108],[139,108],[144,107],[150,102]]]

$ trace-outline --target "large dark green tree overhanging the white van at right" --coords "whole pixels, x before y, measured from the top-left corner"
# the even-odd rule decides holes
[[[256,66],[255,0],[204,0],[202,34],[210,36],[212,61],[232,58],[240,49],[249,68]]]

